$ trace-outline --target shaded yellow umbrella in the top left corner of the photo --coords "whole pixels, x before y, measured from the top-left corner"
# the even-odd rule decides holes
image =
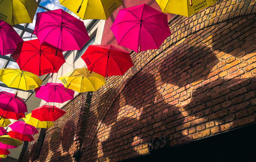
[[[30,23],[33,21],[37,7],[36,0],[1,0],[0,20],[11,26]]]

